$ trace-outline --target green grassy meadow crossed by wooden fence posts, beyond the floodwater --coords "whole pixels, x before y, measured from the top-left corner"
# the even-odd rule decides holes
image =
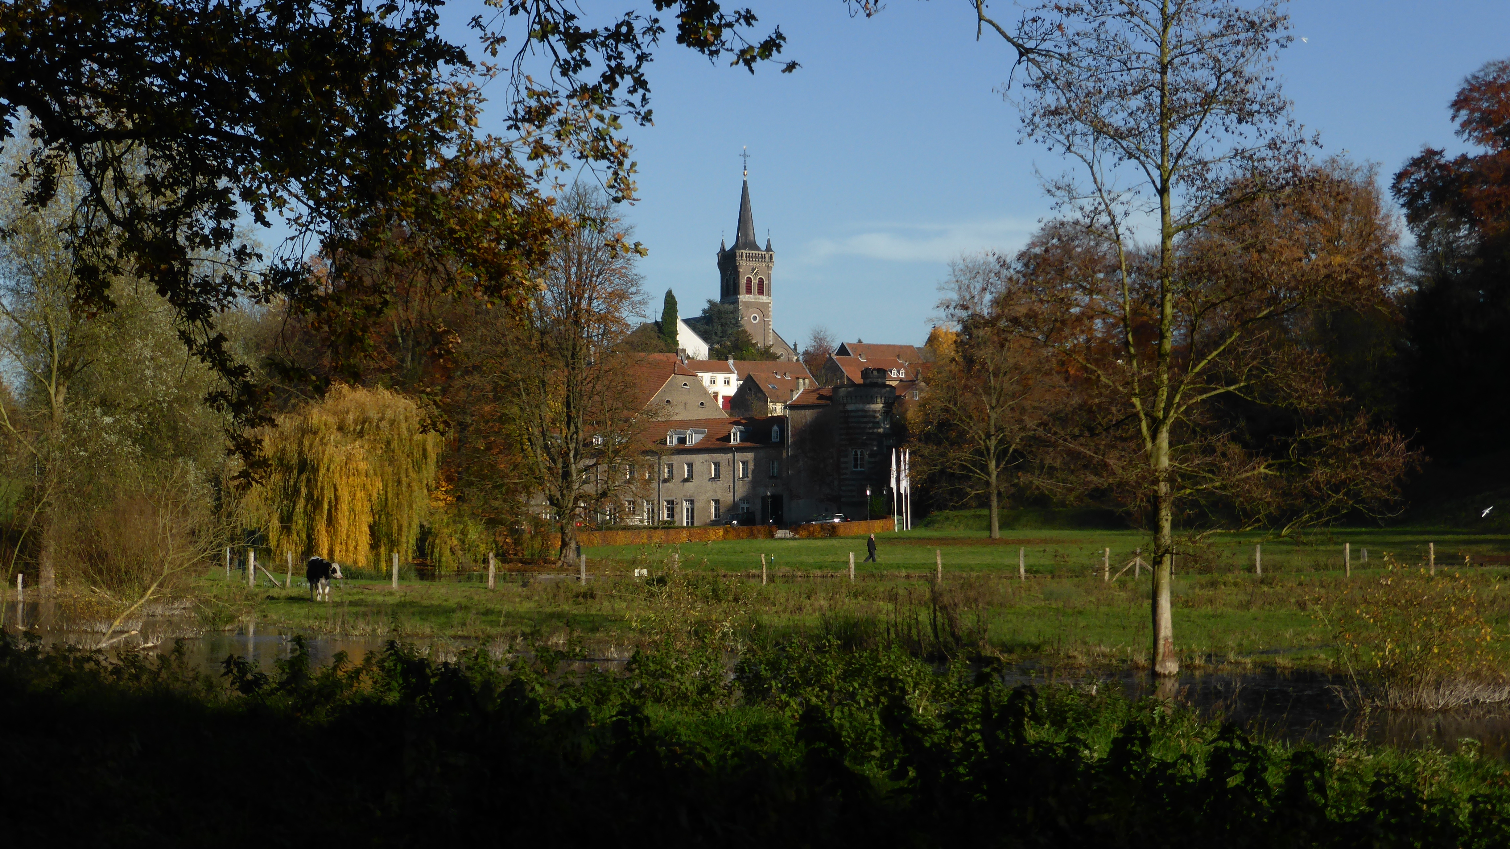
[[[1137,532],[1013,532],[991,541],[968,532],[877,535],[880,563],[861,562],[864,538],[761,539],[683,545],[587,548],[593,580],[575,571],[554,576],[500,576],[488,591],[468,580],[346,580],[332,604],[317,604],[293,589],[249,591],[210,573],[198,583],[207,619],[236,627],[248,618],[272,625],[352,636],[465,638],[479,641],[547,638],[554,642],[633,647],[636,622],[729,621],[741,633],[832,630],[841,621],[873,628],[914,624],[929,628],[953,621],[985,633],[997,651],[1018,660],[1054,665],[1142,663],[1149,644],[1149,579],[1128,571],[1101,577],[1104,548],[1113,571],[1146,544]],[[1353,548],[1353,576],[1342,576],[1342,544]],[[1438,565],[1460,571],[1462,554],[1510,551],[1510,536],[1448,530],[1341,530],[1306,539],[1262,533],[1211,538],[1182,556],[1173,583],[1175,636],[1187,665],[1326,665],[1332,633],[1317,612],[1342,582],[1377,580],[1386,553],[1424,562],[1436,544]],[[1253,576],[1253,545],[1262,545],[1264,576]],[[1018,579],[1024,550],[1027,580]],[[1368,560],[1364,560],[1364,550]],[[855,553],[856,582],[847,580]],[[935,551],[944,583],[933,588]],[[763,585],[761,554],[769,583]],[[669,576],[666,588],[648,586],[634,570]],[[1475,582],[1498,580],[1505,570],[1478,567]],[[680,589],[678,589],[680,588]],[[673,601],[670,597],[675,595]],[[1510,610],[1495,610],[1505,625]]]

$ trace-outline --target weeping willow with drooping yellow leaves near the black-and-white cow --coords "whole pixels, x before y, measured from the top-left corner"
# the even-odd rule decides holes
[[[337,385],[260,437],[267,471],[245,511],[273,551],[358,568],[376,551],[414,551],[441,452],[414,402]]]

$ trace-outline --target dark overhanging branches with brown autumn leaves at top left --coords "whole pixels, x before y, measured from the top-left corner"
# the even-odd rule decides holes
[[[257,421],[254,375],[219,313],[282,298],[361,349],[391,301],[385,278],[355,267],[374,254],[423,269],[436,292],[524,302],[562,228],[553,172],[587,162],[615,198],[633,195],[618,130],[651,116],[657,15],[675,17],[676,44],[746,68],[784,42],[747,39],[755,15],[717,2],[649,0],[601,24],[560,0],[491,5],[473,26],[501,69],[439,35],[438,0],[5,3],[0,139],[24,125],[35,144],[29,202],[51,202],[66,165],[80,208],[119,234],[121,251],[100,228],[69,236],[79,302],[109,310],[125,270],[149,281],[226,379],[217,400]],[[506,131],[485,134],[482,83],[498,74]],[[264,257],[248,215],[291,236]],[[311,254],[350,264],[331,269],[338,286],[322,286]]]

